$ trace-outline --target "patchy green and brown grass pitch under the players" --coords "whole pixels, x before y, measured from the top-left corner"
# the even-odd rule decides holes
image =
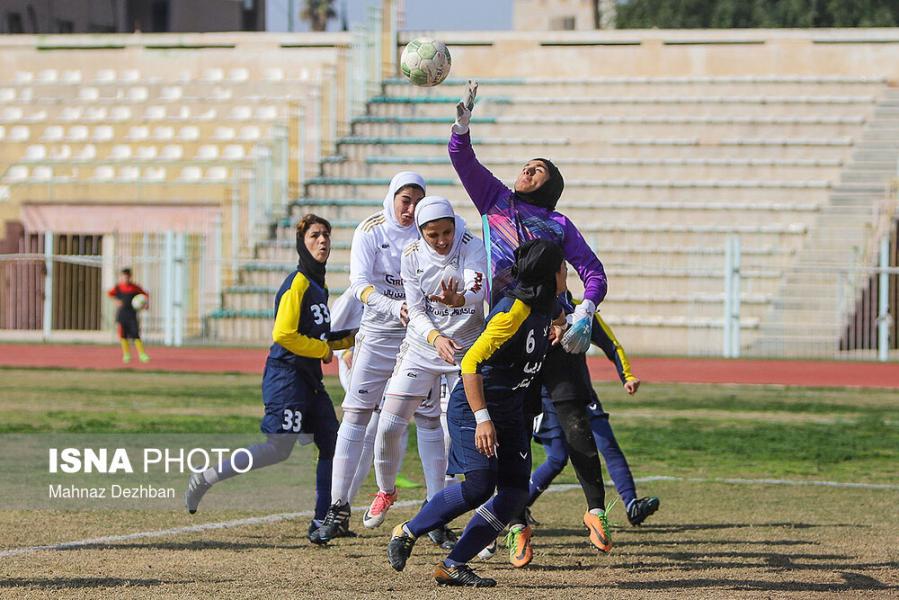
[[[327,383],[339,405],[342,391],[336,380]],[[0,434],[218,434],[252,441],[261,437],[259,385],[259,377],[250,375],[0,369]],[[895,391],[645,384],[629,397],[615,384],[597,390],[634,474],[673,478],[639,485],[641,493],[662,497],[662,509],[639,529],[627,527],[615,509],[613,519],[625,524],[615,530],[616,549],[597,556],[580,532],[580,492],[546,495],[535,507],[544,525],[535,538],[534,564],[513,570],[502,556],[484,564],[504,586],[487,597],[510,591],[528,598],[610,591],[619,597],[686,592],[710,598],[899,593]],[[415,436],[409,439],[403,473],[421,482]],[[291,463],[308,456],[295,453],[288,464],[266,471],[286,474],[279,489],[291,493],[297,485],[290,477],[298,472]],[[542,456],[535,447],[535,463]],[[267,494],[268,480],[254,477],[217,486],[210,495],[224,501],[229,487]],[[723,481],[737,478],[892,487]],[[574,482],[573,472],[566,469],[559,481]],[[373,491],[372,476],[357,504]],[[407,490],[403,498],[422,494]],[[308,490],[302,498],[310,508]],[[0,510],[0,552],[267,514],[252,506],[216,506],[191,517],[171,508],[13,510],[7,504]],[[394,509],[388,522],[411,511]],[[385,591],[433,597],[428,565],[439,552],[420,542],[420,557],[394,574],[385,568],[388,531],[382,529],[324,550],[305,542],[303,520],[0,557],[0,595],[271,597],[296,585],[285,573],[308,572],[329,588],[329,597],[383,597]],[[357,578],[341,578],[347,571]],[[290,589],[298,597],[320,597]]]

